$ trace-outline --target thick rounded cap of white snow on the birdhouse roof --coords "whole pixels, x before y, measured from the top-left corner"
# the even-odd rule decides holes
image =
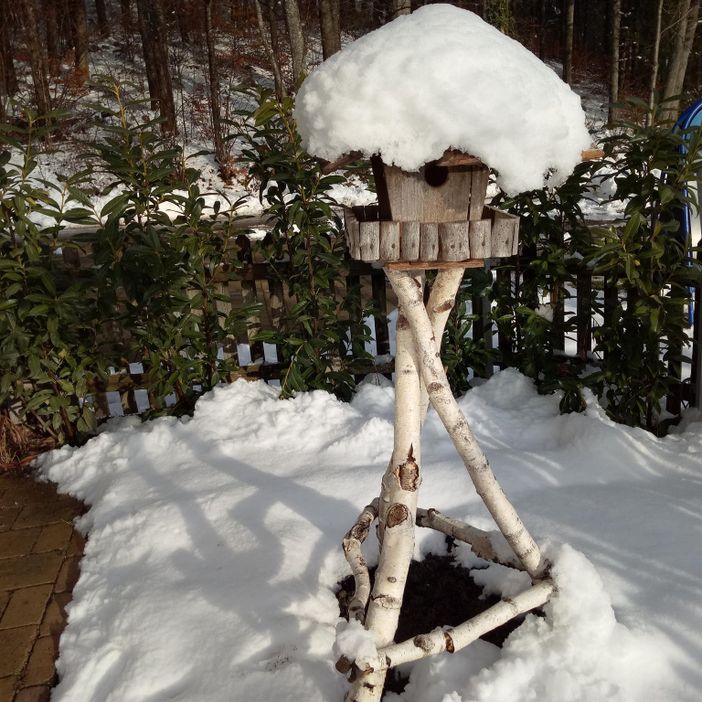
[[[562,183],[590,145],[580,98],[477,15],[427,5],[345,46],[305,80],[295,119],[307,151],[380,153],[416,171],[453,148],[514,194]]]

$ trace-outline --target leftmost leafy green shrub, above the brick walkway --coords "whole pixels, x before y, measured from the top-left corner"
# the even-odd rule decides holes
[[[82,217],[66,206],[81,175],[61,185],[39,178],[34,144],[43,133],[32,115],[28,122],[0,133],[0,413],[62,443],[95,428],[84,400],[101,366],[97,308],[90,273],[69,272],[59,253],[75,246],[60,240],[59,223]]]

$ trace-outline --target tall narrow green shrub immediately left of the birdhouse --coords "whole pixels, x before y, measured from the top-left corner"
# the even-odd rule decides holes
[[[346,247],[329,190],[344,178],[324,175],[302,149],[291,98],[278,102],[269,92],[255,98],[244,156],[272,219],[272,244],[264,255],[293,300],[280,327],[259,338],[278,344],[286,368],[284,397],[321,388],[350,399],[354,374],[369,358],[364,349],[369,330],[362,322],[368,310],[360,309],[359,290],[340,289]]]

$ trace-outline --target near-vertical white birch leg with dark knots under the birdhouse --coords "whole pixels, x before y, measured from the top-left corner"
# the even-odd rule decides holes
[[[409,275],[408,279],[421,295],[422,278]],[[366,628],[375,634],[378,647],[393,642],[414,555],[417,490],[421,481],[420,388],[415,343],[400,306],[395,355],[395,441],[392,461],[383,477],[385,531],[366,615]],[[385,671],[361,674],[353,682],[346,700],[378,702],[384,683]]]

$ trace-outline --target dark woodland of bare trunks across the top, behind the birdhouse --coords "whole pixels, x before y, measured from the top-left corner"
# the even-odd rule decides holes
[[[159,109],[166,133],[187,140],[193,122],[206,123],[227,175],[223,121],[232,110],[232,80],[255,83],[267,74],[282,96],[344,41],[425,4],[430,3],[2,0],[0,120],[22,120],[26,107],[40,115],[76,109],[91,78],[130,75]],[[611,103],[635,95],[653,104],[697,94],[702,87],[702,53],[695,43],[700,0],[453,4],[480,14],[541,59],[562,64],[566,81],[587,78],[608,86]],[[198,70],[190,75],[186,64]],[[80,115],[74,119],[80,122]]]

